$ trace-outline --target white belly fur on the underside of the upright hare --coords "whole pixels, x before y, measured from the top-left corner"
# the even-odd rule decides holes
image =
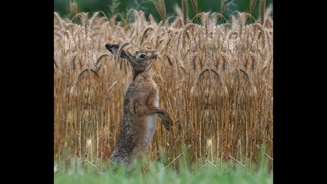
[[[156,101],[153,104],[156,107],[159,107],[159,99],[156,99]],[[156,130],[157,127],[157,114],[149,115],[146,117],[146,124],[147,124],[147,130],[146,130],[146,135],[145,135],[145,140],[144,140],[144,147],[143,147],[143,152],[146,152],[148,146],[150,145],[154,131]]]

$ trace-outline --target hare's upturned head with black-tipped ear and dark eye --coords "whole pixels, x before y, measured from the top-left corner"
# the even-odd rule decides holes
[[[114,55],[118,53],[119,45],[106,44],[106,48]],[[152,59],[156,59],[159,53],[156,50],[140,50],[131,54],[128,50],[123,49],[120,58],[126,59],[129,62],[130,67],[136,73],[143,72],[147,66],[151,63]]]

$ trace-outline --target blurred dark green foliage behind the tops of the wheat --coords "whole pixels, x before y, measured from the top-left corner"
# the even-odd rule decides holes
[[[54,0],[54,11],[58,12],[61,17],[74,16],[74,12],[70,9],[70,2],[72,0]],[[150,0],[75,0],[77,3],[78,11],[90,12],[90,16],[96,11],[103,11],[107,17],[112,17],[113,14],[118,15],[118,20],[121,17],[133,20],[133,11],[130,9],[142,10],[145,12],[146,17],[152,14],[158,21],[161,20],[157,9],[154,7]],[[220,12],[220,0],[198,0],[198,11],[199,12]],[[253,10],[253,17],[258,19],[259,17],[259,4],[260,0],[257,0],[255,9]],[[269,5],[273,5],[273,0],[266,0],[266,8]],[[173,19],[176,16],[175,8],[178,6],[181,9],[181,0],[165,0],[167,17]],[[249,12],[250,0],[227,0],[227,6],[223,15],[226,19],[234,11]],[[128,13],[129,12],[129,13]],[[195,16],[195,12],[192,7],[191,0],[188,0],[188,15],[192,19]],[[272,13],[273,16],[273,13]]]

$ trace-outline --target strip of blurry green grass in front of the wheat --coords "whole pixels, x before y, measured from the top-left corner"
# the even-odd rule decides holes
[[[186,164],[187,163],[187,164]],[[149,167],[143,163],[143,168],[139,164],[131,171],[127,171],[124,167],[119,168],[115,173],[107,169],[102,173],[87,172],[91,167],[85,164],[84,168],[70,167],[66,171],[58,171],[54,174],[54,183],[119,183],[119,184],[207,184],[207,183],[235,183],[235,184],[252,184],[252,183],[273,183],[273,173],[268,172],[267,160],[265,158],[257,164],[230,162],[205,161],[202,164],[189,165],[184,158],[180,160],[180,170],[172,171],[170,166],[166,169],[166,165],[162,162],[151,163]],[[74,165],[74,164],[71,164]],[[78,165],[78,164],[77,164]],[[80,164],[81,165],[81,164]],[[203,166],[203,167],[202,167]],[[89,168],[88,168],[89,167]],[[147,168],[146,172],[144,168]],[[255,173],[255,174],[253,174]]]

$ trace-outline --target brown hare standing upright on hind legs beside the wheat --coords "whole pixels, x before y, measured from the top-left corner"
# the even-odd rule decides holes
[[[105,46],[112,54],[118,54],[119,45]],[[159,90],[148,72],[151,60],[157,59],[158,55],[156,50],[141,50],[133,55],[126,49],[121,52],[120,58],[129,62],[131,76],[124,95],[123,118],[113,147],[111,166],[130,165],[138,154],[146,152],[154,135],[157,115],[168,131],[169,125],[173,125],[167,110],[159,107]]]

